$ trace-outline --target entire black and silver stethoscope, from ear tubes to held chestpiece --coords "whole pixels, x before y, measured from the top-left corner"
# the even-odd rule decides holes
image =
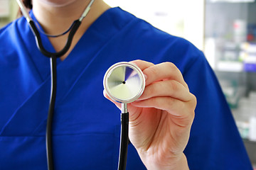
[[[36,23],[32,20],[31,16],[29,16],[28,12],[26,11],[26,7],[24,6],[23,2],[21,0],[16,1],[18,2],[18,6],[21,8],[21,12],[26,18],[26,21],[28,22],[31,31],[36,38],[36,45],[38,47],[38,50],[40,50],[43,55],[50,58],[51,90],[46,125],[46,154],[48,170],[53,170],[54,162],[51,132],[57,91],[57,58],[65,55],[65,53],[68,52],[68,50],[70,49],[70,45],[76,31],[78,30],[83,18],[87,16],[87,13],[90,11],[90,7],[95,0],[90,1],[80,18],[78,20],[75,20],[70,28],[68,28],[68,30],[58,35],[48,35],[47,33],[44,33],[43,30],[38,29],[36,27]],[[69,34],[67,42],[62,50],[60,50],[59,52],[49,52],[43,47],[41,35],[39,32],[43,33],[43,35],[53,38],[65,35],[66,33]],[[129,143],[129,113],[127,109],[127,103],[132,103],[133,101],[137,100],[139,96],[142,95],[145,88],[144,74],[142,73],[141,69],[139,69],[139,67],[137,67],[135,64],[132,64],[130,62],[119,62],[112,65],[112,67],[107,70],[103,79],[103,86],[107,92],[107,95],[110,96],[113,101],[122,103],[118,169],[126,169],[127,148]]]

